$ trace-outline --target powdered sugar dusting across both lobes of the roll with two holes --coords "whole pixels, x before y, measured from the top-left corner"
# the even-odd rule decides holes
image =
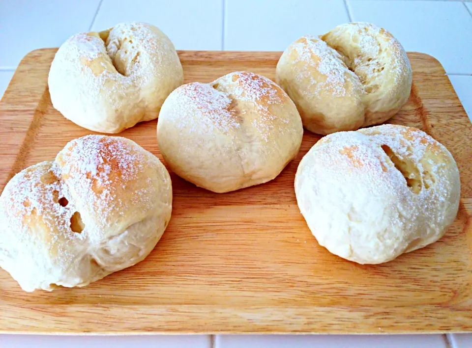
[[[42,162],[18,173],[2,197],[9,197],[5,198],[6,211],[40,216],[51,231],[58,229],[61,239],[64,235],[70,239],[90,237],[101,233],[110,223],[107,214],[123,205],[116,191],[125,190],[146,165],[145,156],[132,152],[120,138],[88,135],[69,142],[55,162]],[[68,201],[65,206],[59,204],[61,197]],[[140,196],[140,203],[147,199],[147,195]],[[78,206],[80,202],[82,206]],[[84,214],[84,207],[93,207],[97,221],[86,225],[82,233],[74,233],[70,219],[75,212]],[[11,222],[28,227],[22,219]]]

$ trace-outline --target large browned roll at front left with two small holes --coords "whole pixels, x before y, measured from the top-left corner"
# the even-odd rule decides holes
[[[159,159],[126,138],[84,136],[4,188],[0,267],[28,292],[86,286],[148,256],[171,211]]]

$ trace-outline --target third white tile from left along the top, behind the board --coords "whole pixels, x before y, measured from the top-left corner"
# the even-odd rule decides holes
[[[343,0],[280,1],[272,6],[267,1],[226,0],[224,49],[284,51],[302,35],[347,22]]]

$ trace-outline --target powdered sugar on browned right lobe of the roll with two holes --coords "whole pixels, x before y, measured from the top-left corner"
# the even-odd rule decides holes
[[[58,154],[56,162],[55,171],[69,187],[74,200],[93,207],[97,213],[98,229],[112,222],[110,212],[125,210],[127,203],[117,192],[129,189],[129,183],[137,180],[148,165],[147,158],[133,151],[128,140],[103,135],[72,140]]]

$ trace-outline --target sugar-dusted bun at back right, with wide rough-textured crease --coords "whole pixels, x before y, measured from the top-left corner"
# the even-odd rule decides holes
[[[408,101],[412,68],[402,45],[383,28],[349,23],[303,36],[282,54],[276,82],[314,133],[382,123]]]

